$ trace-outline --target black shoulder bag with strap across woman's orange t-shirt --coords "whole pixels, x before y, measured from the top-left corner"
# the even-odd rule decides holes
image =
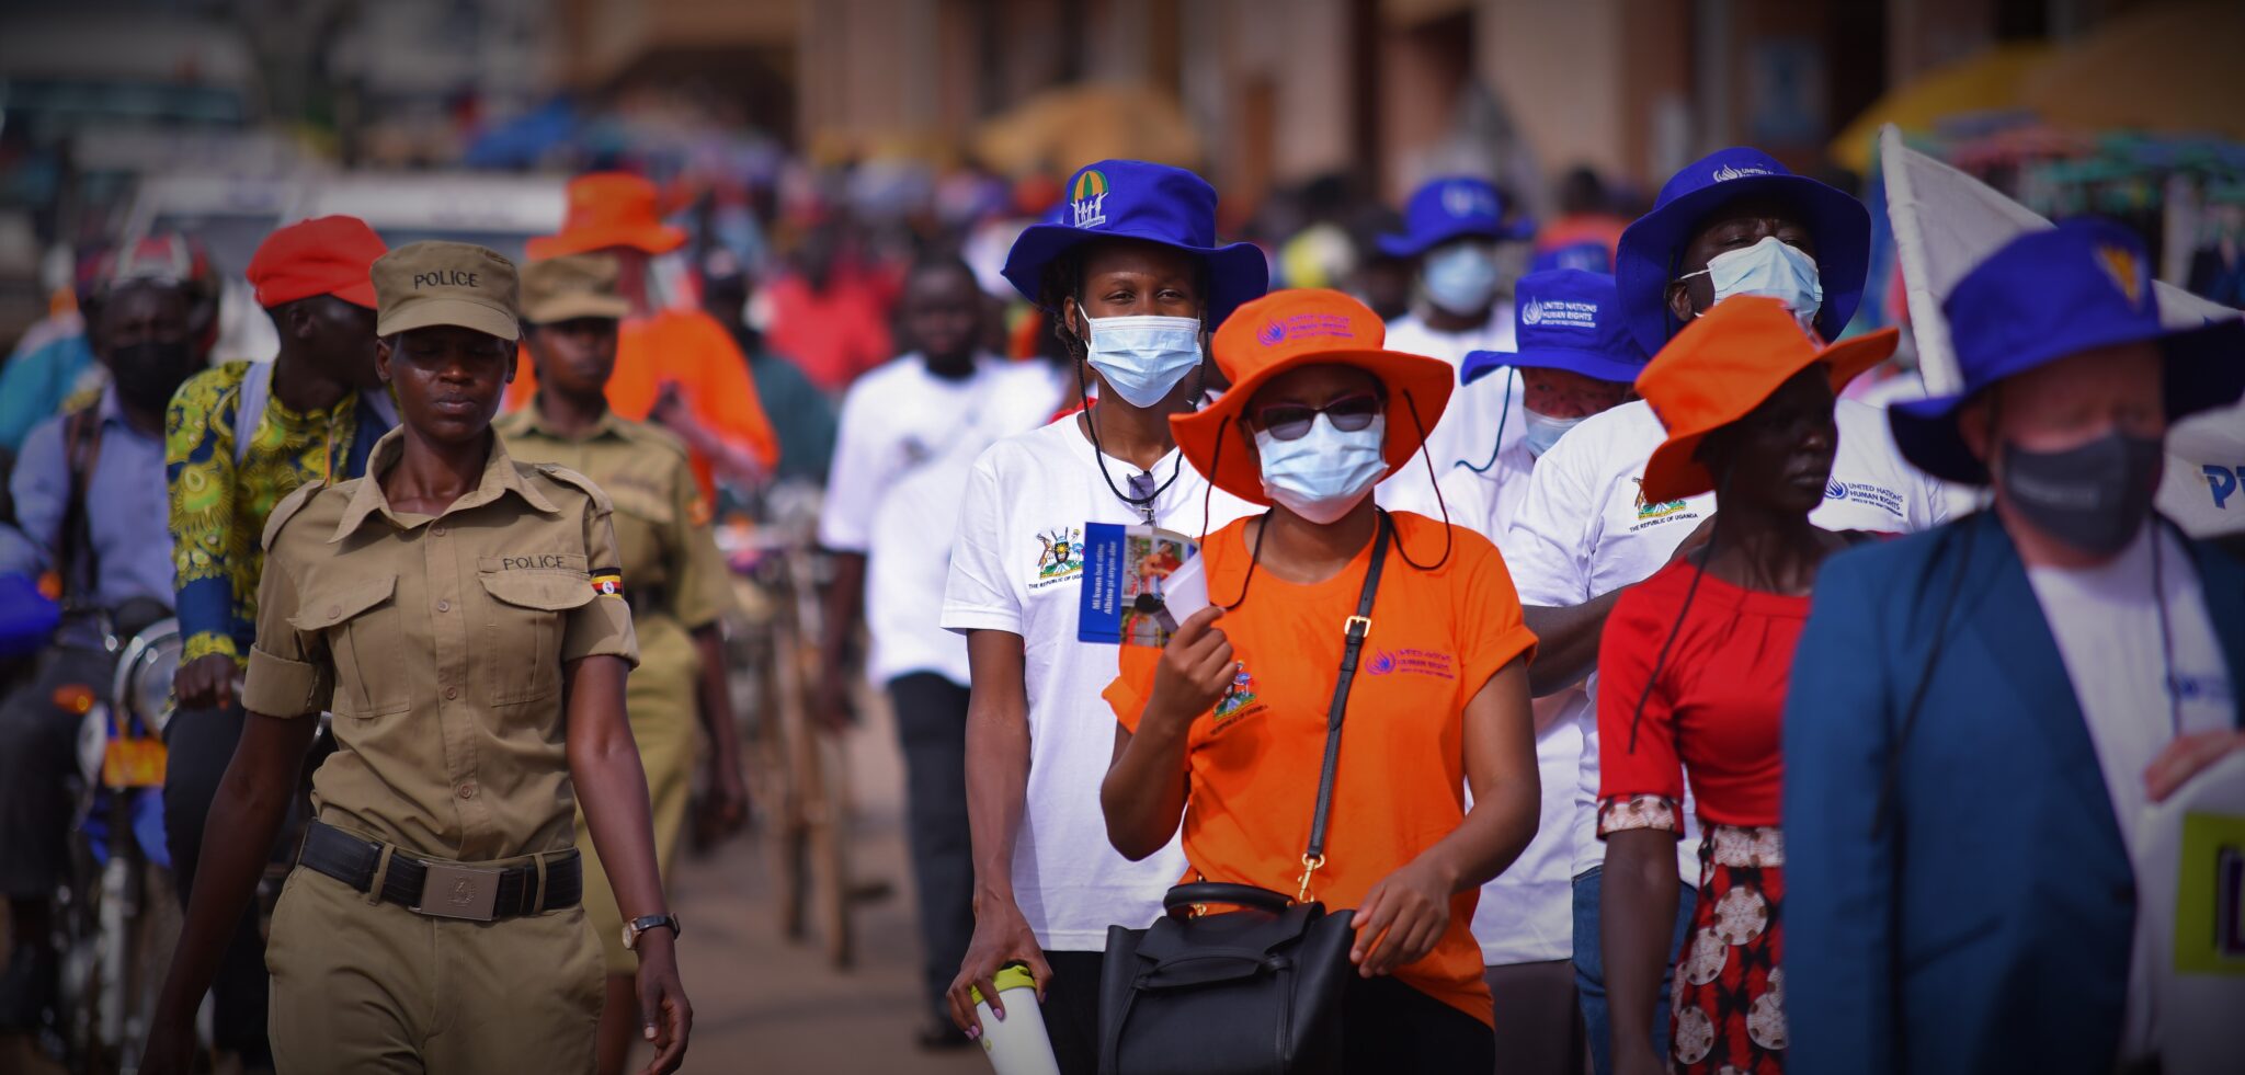
[[[1109,927],[1100,972],[1100,1075],[1340,1071],[1340,1005],[1356,976],[1349,963],[1354,911],[1327,911],[1309,898],[1309,882],[1325,866],[1340,720],[1372,631],[1387,534],[1381,512],[1365,588],[1345,626],[1334,705],[1325,714],[1325,772],[1302,851],[1300,893],[1289,900],[1253,884],[1179,884],[1163,898],[1167,913],[1152,927]],[[1239,911],[1208,913],[1208,904]]]

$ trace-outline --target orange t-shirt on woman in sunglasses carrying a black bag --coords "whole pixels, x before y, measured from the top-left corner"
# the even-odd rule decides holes
[[[1410,512],[1392,518],[1410,559],[1441,557],[1444,523]],[[1210,534],[1201,552],[1215,601],[1230,601],[1248,581],[1248,521]],[[1457,545],[1435,570],[1403,563],[1396,548],[1387,552],[1340,734],[1325,869],[1311,889],[1331,909],[1360,907],[1374,884],[1466,819],[1466,702],[1504,664],[1536,651],[1504,557],[1470,530],[1450,527],[1450,536]],[[1295,893],[1343,626],[1369,563],[1367,543],[1347,568],[1311,586],[1257,570],[1246,601],[1217,619],[1244,669],[1188,738],[1188,880]],[[1158,660],[1158,649],[1120,646],[1122,676],[1107,687],[1107,702],[1129,732],[1154,691]],[[1453,895],[1450,927],[1435,952],[1396,978],[1493,1023],[1482,947],[1473,940],[1477,900],[1479,886]]]

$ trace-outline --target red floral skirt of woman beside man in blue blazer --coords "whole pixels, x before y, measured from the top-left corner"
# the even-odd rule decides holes
[[[1699,909],[1677,958],[1670,1048],[1679,1073],[1785,1071],[1785,837],[1706,826]]]

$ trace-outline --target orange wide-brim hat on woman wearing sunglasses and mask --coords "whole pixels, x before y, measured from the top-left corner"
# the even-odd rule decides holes
[[[1441,420],[1457,386],[1448,361],[1385,350],[1387,325],[1365,303],[1322,287],[1271,292],[1241,305],[1217,328],[1217,368],[1233,382],[1217,402],[1170,415],[1179,451],[1219,489],[1271,505],[1262,467],[1239,433],[1255,393],[1307,366],[1354,366],[1381,379],[1387,395],[1387,474],[1396,474]]]

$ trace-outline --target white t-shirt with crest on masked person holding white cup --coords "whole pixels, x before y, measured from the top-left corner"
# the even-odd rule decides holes
[[[1129,462],[1107,458],[1114,489],[1129,491]],[[1201,536],[1208,480],[1172,451],[1152,469],[1163,491],[1154,525]],[[1174,476],[1174,478],[1172,478]],[[1107,927],[1145,927],[1185,873],[1170,846],[1129,862],[1107,842],[1100,781],[1114,761],[1116,718],[1100,691],[1118,671],[1116,646],[1078,642],[1084,523],[1143,523],[1100,476],[1075,417],[990,444],[968,478],[952,545],[943,626],[1021,635],[1028,689],[1028,808],[1012,848],[1012,891],[1037,945],[1102,952]],[[1257,507],[1221,489],[1208,530]]]

